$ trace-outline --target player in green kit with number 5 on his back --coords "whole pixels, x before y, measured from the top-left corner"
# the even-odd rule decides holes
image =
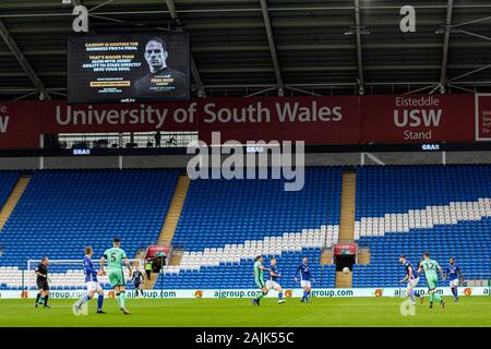
[[[124,282],[124,273],[121,266],[121,263],[124,262],[127,266],[130,278],[133,274],[133,270],[130,265],[130,261],[128,261],[127,253],[121,250],[120,240],[115,238],[112,240],[112,249],[106,250],[104,252],[103,257],[100,258],[100,272],[104,272],[104,262],[107,261],[107,272],[109,277],[109,282],[111,287],[115,289],[116,299],[118,300],[119,309],[124,313],[124,315],[129,315],[130,312],[127,309],[125,300],[127,300],[127,287]]]

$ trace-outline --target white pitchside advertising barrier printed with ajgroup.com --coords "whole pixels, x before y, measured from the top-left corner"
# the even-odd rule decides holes
[[[428,296],[428,290],[424,288],[417,289],[421,294]],[[258,289],[208,289],[208,290],[144,290],[143,296],[139,298],[143,299],[193,299],[193,298],[207,298],[207,299],[249,299],[261,292]],[[436,289],[440,296],[453,297],[448,287],[441,287]],[[80,299],[86,293],[85,290],[55,290],[50,292],[51,299]],[[113,291],[105,291],[107,298],[113,298]],[[303,294],[302,289],[286,289],[284,290],[285,297],[300,298]],[[471,297],[471,296],[490,296],[490,287],[460,287],[458,289],[458,296]],[[312,289],[312,298],[354,298],[354,297],[392,297],[392,298],[405,298],[407,297],[405,288],[320,288]],[[1,299],[34,299],[36,297],[35,291],[21,292],[20,290],[4,290],[0,291]],[[133,298],[134,293],[130,290],[127,292],[128,298]],[[277,292],[271,291],[267,298],[276,298]]]

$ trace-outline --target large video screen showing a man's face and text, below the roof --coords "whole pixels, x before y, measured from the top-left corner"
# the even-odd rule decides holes
[[[71,36],[68,103],[190,99],[185,33]]]

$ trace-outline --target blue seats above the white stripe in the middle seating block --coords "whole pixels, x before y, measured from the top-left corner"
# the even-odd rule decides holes
[[[307,169],[298,192],[284,180],[192,181],[172,244],[201,251],[338,225],[340,182],[340,168]]]

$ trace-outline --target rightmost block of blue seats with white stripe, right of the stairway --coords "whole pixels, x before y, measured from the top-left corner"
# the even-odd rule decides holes
[[[372,257],[354,266],[354,287],[400,286],[399,254],[417,265],[424,251],[443,268],[455,256],[466,279],[491,278],[490,179],[491,166],[359,168],[355,236]]]

